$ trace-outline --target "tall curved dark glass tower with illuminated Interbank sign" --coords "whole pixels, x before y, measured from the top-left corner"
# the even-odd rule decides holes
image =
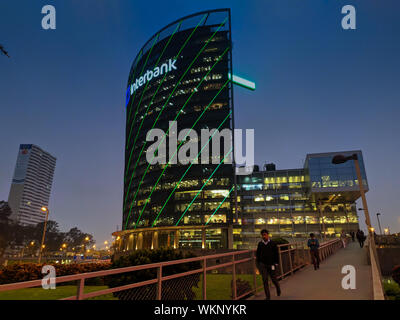
[[[129,248],[155,247],[164,238],[172,245],[180,233],[188,245],[204,232],[219,239],[232,223],[234,170],[224,162],[232,148],[221,144],[217,157],[214,147],[211,155],[192,138],[203,129],[233,128],[231,48],[230,11],[219,9],[167,25],[136,56],[126,91],[122,233]],[[165,141],[166,148],[163,153],[157,147],[152,157],[153,128],[165,133],[160,144]],[[197,141],[193,157],[198,160],[201,153],[201,164],[180,161],[187,137]],[[164,154],[168,163],[151,161]]]

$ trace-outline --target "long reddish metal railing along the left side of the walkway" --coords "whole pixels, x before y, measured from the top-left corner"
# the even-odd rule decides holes
[[[320,246],[321,260],[343,247],[339,239]],[[309,250],[304,243],[278,245],[278,278],[282,279],[310,263]],[[77,293],[63,300],[82,300],[113,294],[120,300],[237,300],[249,297],[262,288],[256,268],[256,251],[242,250],[189,259],[151,263],[132,267],[57,277],[56,284],[77,281]],[[171,272],[171,268],[186,270]],[[150,277],[154,275],[154,277]],[[85,292],[85,281],[124,279],[124,285]],[[116,277],[115,277],[116,276]],[[149,278],[150,277],[150,278]],[[149,278],[149,279],[148,279]],[[134,281],[134,280],[144,281]],[[106,282],[107,283],[107,282]],[[124,283],[124,282],[122,282]],[[41,287],[42,280],[0,285],[1,291]]]

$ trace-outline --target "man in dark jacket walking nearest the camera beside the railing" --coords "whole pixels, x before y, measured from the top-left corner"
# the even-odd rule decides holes
[[[278,279],[276,278],[276,268],[279,264],[279,253],[278,247],[275,242],[273,242],[267,230],[261,230],[262,240],[258,243],[256,264],[260,271],[263,279],[265,298],[266,300],[271,299],[268,285],[268,275],[276,288],[276,294],[281,295],[281,288],[279,286]]]

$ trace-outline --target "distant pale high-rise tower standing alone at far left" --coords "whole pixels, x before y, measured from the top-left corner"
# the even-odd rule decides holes
[[[41,211],[49,204],[56,158],[34,144],[19,146],[8,203],[11,219],[22,225],[45,220]]]

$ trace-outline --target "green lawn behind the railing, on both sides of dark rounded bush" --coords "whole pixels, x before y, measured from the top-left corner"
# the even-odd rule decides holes
[[[196,300],[202,299],[202,275],[199,288],[193,288],[196,293]],[[248,281],[253,288],[253,275],[240,274],[237,279]],[[207,300],[231,300],[230,274],[207,274]],[[262,286],[262,279],[257,275],[257,286]],[[107,289],[107,286],[85,286],[85,293]],[[45,290],[43,288],[28,288],[0,292],[0,300],[57,300],[76,295],[77,287],[74,285],[57,286],[56,289]],[[112,294],[102,295],[89,300],[118,300]]]

